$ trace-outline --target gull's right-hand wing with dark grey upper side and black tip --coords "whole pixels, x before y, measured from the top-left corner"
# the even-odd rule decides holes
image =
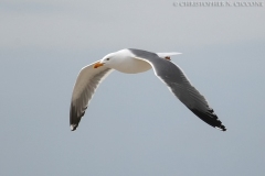
[[[213,109],[209,107],[205,98],[190,84],[177,65],[158,57],[155,53],[138,50],[131,52],[136,55],[136,58],[148,62],[152,66],[155,74],[168,85],[173,95],[197,117],[214,128],[226,131]]]

